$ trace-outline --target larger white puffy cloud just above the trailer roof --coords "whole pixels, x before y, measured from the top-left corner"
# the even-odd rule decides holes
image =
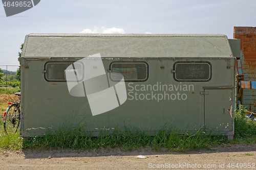
[[[87,28],[80,32],[80,34],[125,34],[121,28],[105,28],[105,27],[94,27],[92,30]]]

